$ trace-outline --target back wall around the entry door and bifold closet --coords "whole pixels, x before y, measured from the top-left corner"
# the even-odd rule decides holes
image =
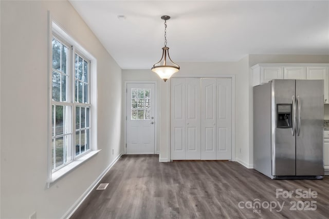
[[[236,160],[243,163],[249,163],[249,112],[245,107],[248,104],[249,94],[246,92],[249,88],[248,80],[248,57],[243,58],[239,62],[180,62],[180,71],[174,76],[178,75],[235,75],[235,145],[236,145]],[[160,161],[168,161],[170,159],[169,147],[169,89],[170,79],[163,82],[150,69],[145,70],[122,70],[122,83],[124,81],[158,81],[158,96],[160,95],[160,127],[157,130],[158,144],[160,151]],[[125,95],[125,90],[122,90],[122,95]],[[122,136],[124,139],[124,136]],[[241,148],[241,152],[240,152]]]

